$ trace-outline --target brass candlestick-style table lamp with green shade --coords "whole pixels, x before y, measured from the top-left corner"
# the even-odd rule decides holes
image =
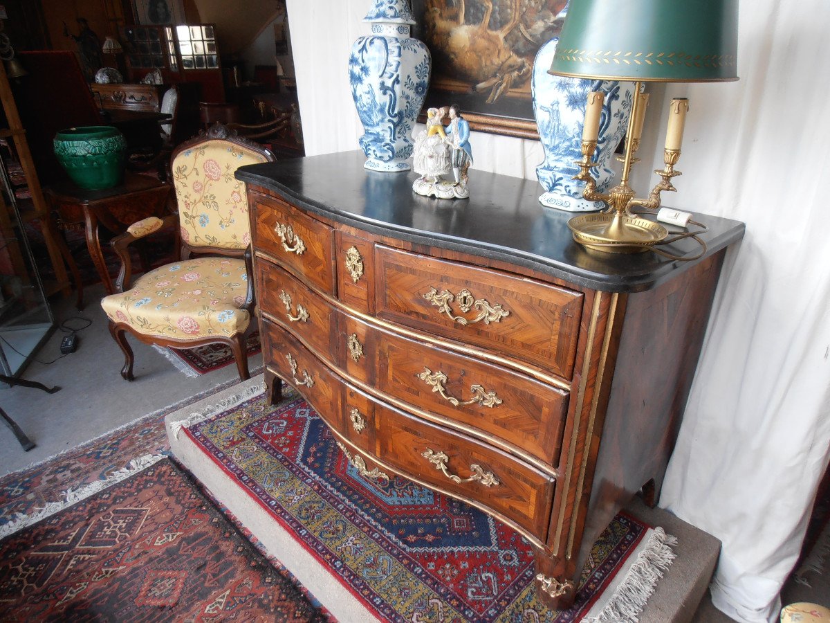
[[[637,199],[628,185],[640,143],[648,96],[643,82],[710,82],[737,80],[737,0],[571,0],[556,56],[549,72],[556,76],[625,80],[637,83],[628,120],[623,174],[608,194],[598,193],[590,174],[597,146],[603,94],[588,95],[582,136],[583,157],[574,179],[586,183],[583,196],[603,201],[602,213],[582,214],[568,226],[574,240],[599,251],[647,251],[668,236],[666,228],[641,218],[635,208],[657,210],[663,190],[675,190],[671,178],[680,157],[683,125],[689,110],[685,98],[671,101],[664,169],[647,199]],[[668,241],[667,241],[668,242]]]

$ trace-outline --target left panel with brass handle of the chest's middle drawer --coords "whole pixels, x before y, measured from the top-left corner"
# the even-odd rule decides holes
[[[274,316],[320,355],[331,356],[336,342],[334,310],[322,298],[280,267],[262,258],[256,262],[256,286],[263,312]]]

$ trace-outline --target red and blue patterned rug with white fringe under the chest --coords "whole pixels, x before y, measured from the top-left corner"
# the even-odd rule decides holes
[[[305,400],[272,407],[258,395],[168,425],[382,621],[636,621],[674,557],[661,528],[620,514],[593,547],[574,607],[550,611],[523,537],[404,478],[362,478]]]

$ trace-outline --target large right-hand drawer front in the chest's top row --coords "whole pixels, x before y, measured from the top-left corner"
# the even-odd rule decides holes
[[[573,375],[582,293],[382,245],[374,257],[378,317]]]

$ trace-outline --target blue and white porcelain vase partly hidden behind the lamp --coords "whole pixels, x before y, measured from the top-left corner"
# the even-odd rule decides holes
[[[599,138],[591,169],[597,188],[605,192],[614,180],[610,164],[614,150],[623,139],[634,97],[632,82],[611,80],[584,80],[551,76],[548,73],[554,61],[559,39],[551,39],[536,54],[530,89],[533,112],[544,149],[544,162],[536,167],[536,177],[545,192],[540,204],[569,212],[590,212],[605,207],[601,201],[583,199],[583,182],[572,179],[579,173],[574,164],[582,159],[582,130],[588,93],[603,91],[605,104],[599,119]]]

